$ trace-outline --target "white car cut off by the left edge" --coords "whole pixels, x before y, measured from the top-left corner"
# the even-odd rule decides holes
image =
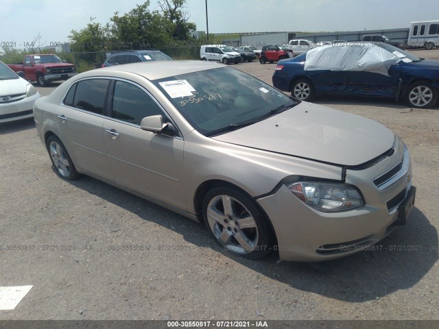
[[[36,88],[0,62],[0,123],[34,117]]]

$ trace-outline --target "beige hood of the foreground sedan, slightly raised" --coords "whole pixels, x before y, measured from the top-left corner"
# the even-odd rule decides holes
[[[368,162],[394,143],[394,134],[380,123],[307,102],[213,138],[340,166]]]

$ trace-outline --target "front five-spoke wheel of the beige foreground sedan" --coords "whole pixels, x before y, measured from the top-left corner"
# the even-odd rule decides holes
[[[202,213],[207,229],[225,250],[261,259],[272,250],[272,230],[262,210],[243,191],[217,186],[204,196]]]

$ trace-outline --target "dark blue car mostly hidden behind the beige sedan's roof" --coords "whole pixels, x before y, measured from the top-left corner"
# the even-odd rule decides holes
[[[156,49],[112,51],[107,56],[105,62],[102,64],[102,67],[129,63],[151,62],[154,60],[173,59]]]

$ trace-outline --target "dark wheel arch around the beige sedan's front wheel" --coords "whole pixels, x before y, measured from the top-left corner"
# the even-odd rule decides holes
[[[248,193],[243,188],[237,186],[236,184],[233,184],[226,180],[220,180],[220,179],[206,180],[205,182],[202,182],[202,184],[200,184],[200,186],[198,186],[198,188],[195,190],[195,194],[193,196],[193,208],[195,209],[195,215],[200,223],[204,223],[204,218],[202,215],[202,204],[204,200],[204,195],[206,195],[206,193],[209,190],[217,186],[228,186],[230,188],[236,188],[237,190],[241,191],[241,193],[244,193],[248,195],[248,197],[253,199],[254,204],[259,208],[259,210],[261,210],[261,212],[265,216],[265,219],[268,221],[271,231],[269,232],[269,234],[272,237],[273,243],[277,245],[277,236],[276,236],[276,232],[274,231],[274,226],[272,224],[272,221],[270,220],[270,217],[268,217],[267,213],[265,212],[265,210],[263,210],[263,208],[259,205],[256,199],[254,199],[254,197],[250,195],[250,193]]]

